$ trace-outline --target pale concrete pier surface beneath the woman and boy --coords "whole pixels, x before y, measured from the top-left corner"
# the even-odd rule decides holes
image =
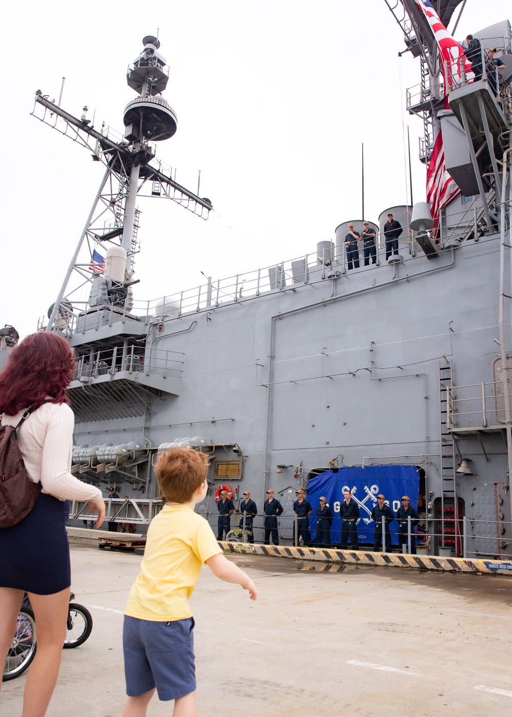
[[[199,717],[511,714],[506,576],[229,559],[259,596],[202,571],[191,598]],[[123,607],[141,557],[72,546],[71,560],[94,627],[63,651],[47,717],[120,717]],[[26,674],[2,686],[1,714],[21,714]],[[148,717],[171,711],[153,698]]]

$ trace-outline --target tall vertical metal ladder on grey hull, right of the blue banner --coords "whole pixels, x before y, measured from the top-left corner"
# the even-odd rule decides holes
[[[458,553],[458,495],[457,495],[457,462],[455,437],[447,427],[450,400],[448,389],[452,387],[452,361],[447,366],[439,364],[440,389],[440,465],[441,465],[441,534],[437,536],[438,545],[442,548],[455,548]],[[453,410],[453,409],[451,409]],[[439,525],[439,521],[437,522]]]

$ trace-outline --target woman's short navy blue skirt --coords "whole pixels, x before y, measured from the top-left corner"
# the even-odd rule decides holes
[[[39,493],[28,516],[11,528],[0,528],[0,587],[37,595],[70,587],[69,516],[69,500]]]

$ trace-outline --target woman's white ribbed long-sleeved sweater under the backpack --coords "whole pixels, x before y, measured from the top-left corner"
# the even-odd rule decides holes
[[[16,426],[26,410],[15,416],[4,414],[2,425]],[[75,416],[67,404],[43,404],[19,428],[19,450],[27,475],[34,483],[41,482],[42,493],[60,500],[99,503],[102,500],[100,489],[82,483],[70,473],[74,424]]]

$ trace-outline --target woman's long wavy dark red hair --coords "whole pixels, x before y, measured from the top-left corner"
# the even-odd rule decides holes
[[[47,396],[69,404],[66,386],[75,369],[72,348],[57,333],[31,333],[13,348],[0,374],[0,413],[14,416],[23,408],[39,408]]]

